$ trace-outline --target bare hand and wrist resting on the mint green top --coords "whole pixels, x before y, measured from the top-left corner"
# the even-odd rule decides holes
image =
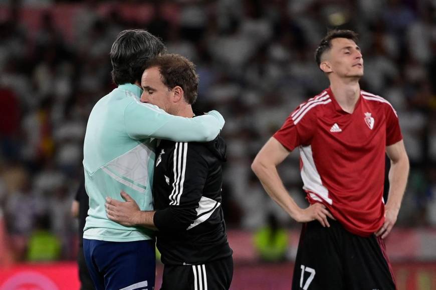
[[[157,230],[153,222],[154,210],[141,211],[136,201],[124,191],[121,197],[125,202],[106,197],[106,214],[109,219],[125,226],[143,226]]]

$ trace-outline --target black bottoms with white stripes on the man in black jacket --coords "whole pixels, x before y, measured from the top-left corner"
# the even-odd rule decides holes
[[[232,277],[232,256],[199,265],[165,265],[160,289],[228,290]]]

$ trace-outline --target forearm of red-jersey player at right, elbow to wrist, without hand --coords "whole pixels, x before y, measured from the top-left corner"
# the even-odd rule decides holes
[[[386,206],[399,210],[407,184],[409,162],[407,158],[393,162],[389,170],[389,193]]]

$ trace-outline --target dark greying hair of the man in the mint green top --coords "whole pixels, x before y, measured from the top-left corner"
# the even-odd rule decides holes
[[[112,44],[112,79],[116,84],[141,82],[148,60],[165,51],[163,42],[144,29],[121,31]]]

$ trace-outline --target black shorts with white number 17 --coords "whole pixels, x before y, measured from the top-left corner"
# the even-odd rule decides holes
[[[303,224],[292,289],[395,289],[383,240],[374,234],[353,234],[335,220],[329,223],[330,227],[317,220]]]

